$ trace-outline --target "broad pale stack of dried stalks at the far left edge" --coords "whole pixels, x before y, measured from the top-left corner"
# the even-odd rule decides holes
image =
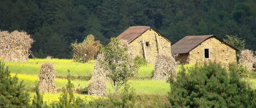
[[[29,49],[33,43],[26,32],[0,31],[0,57],[3,61],[28,61]]]

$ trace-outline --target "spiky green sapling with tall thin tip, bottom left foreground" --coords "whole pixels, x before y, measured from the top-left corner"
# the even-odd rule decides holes
[[[66,88],[62,88],[62,96],[59,97],[59,103],[56,105],[60,108],[80,108],[79,103],[81,101],[80,97],[75,98],[73,94],[74,85],[70,80],[70,70],[68,70],[68,83]]]

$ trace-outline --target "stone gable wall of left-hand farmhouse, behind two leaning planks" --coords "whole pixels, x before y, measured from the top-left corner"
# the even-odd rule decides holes
[[[139,36],[138,38],[136,38],[130,43],[133,56],[135,57],[139,55],[141,57],[144,57],[143,47],[141,42],[142,37],[144,37],[145,42],[149,42],[149,46],[147,47],[148,60],[150,64],[154,65],[156,56],[158,52],[160,52],[160,49],[157,48],[157,42],[156,42],[154,30],[147,30],[141,36]],[[158,40],[159,40],[159,43],[161,44],[162,50],[171,54],[171,43],[165,38],[163,38],[162,36],[158,36]]]

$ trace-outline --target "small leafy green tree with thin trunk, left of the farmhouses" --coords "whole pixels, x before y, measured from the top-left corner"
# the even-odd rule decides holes
[[[109,73],[114,95],[116,90],[128,81],[128,77],[134,75],[136,66],[129,55],[127,44],[121,44],[117,38],[111,38],[110,44],[100,50],[104,60],[100,60],[102,67]]]

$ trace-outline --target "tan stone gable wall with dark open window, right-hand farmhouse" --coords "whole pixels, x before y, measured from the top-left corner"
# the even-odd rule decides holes
[[[204,58],[204,49],[210,50],[210,58]],[[236,50],[216,38],[209,38],[190,51],[188,55],[189,64],[195,64],[196,62],[203,63],[209,60],[216,60],[217,62],[221,62],[222,65],[228,66],[229,62],[236,62]]]

